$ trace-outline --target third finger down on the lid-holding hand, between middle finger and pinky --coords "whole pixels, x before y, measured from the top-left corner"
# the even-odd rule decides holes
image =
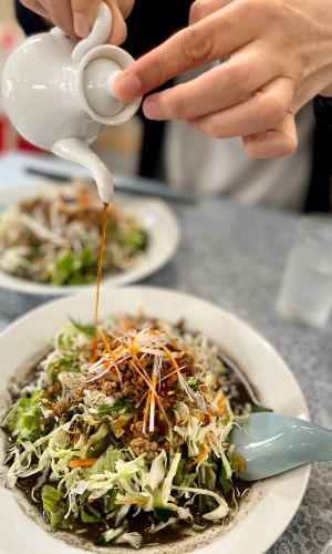
[[[217,138],[246,136],[278,129],[291,110],[293,95],[291,81],[287,78],[278,78],[263,86],[250,100],[191,120],[190,124]]]

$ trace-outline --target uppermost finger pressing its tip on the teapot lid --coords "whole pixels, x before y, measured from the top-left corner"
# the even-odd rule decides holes
[[[141,58],[116,80],[116,94],[131,101],[185,71],[225,58],[251,41],[255,24],[248,25],[241,2],[179,31]]]

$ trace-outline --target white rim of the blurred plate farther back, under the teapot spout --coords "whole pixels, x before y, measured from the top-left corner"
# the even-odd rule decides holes
[[[12,187],[1,191],[0,211],[44,193],[48,188],[53,189],[54,185],[49,183],[38,183],[34,186]],[[118,287],[136,283],[163,267],[176,253],[179,244],[179,226],[164,202],[151,197],[137,197],[132,195],[115,195],[116,204],[133,214],[148,234],[148,246],[136,264],[129,269],[114,276],[105,276],[103,283],[110,287]],[[0,286],[31,295],[64,296],[93,290],[95,285],[60,286],[43,285],[28,279],[20,279],[6,271],[0,270]]]

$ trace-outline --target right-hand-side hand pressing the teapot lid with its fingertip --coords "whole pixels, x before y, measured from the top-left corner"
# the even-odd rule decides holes
[[[293,153],[294,114],[332,83],[331,0],[196,0],[189,27],[125,70],[116,93],[133,100],[220,58],[227,61],[147,98],[145,115],[241,136],[255,157]]]

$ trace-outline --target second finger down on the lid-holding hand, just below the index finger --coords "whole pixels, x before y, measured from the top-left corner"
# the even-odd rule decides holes
[[[256,44],[191,81],[148,96],[144,114],[153,120],[190,120],[238,104],[278,75],[273,54]]]

